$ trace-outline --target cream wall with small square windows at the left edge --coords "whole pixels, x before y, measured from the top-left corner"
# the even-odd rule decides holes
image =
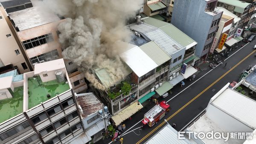
[[[13,66],[17,66],[21,73],[29,72],[29,66],[26,63],[25,58],[22,55],[22,52],[15,40],[14,34],[12,33],[10,27],[6,20],[9,20],[6,14],[6,11],[2,6],[0,6],[0,16],[3,19],[0,19],[0,58],[4,65],[8,65],[10,63]],[[11,37],[6,37],[6,35],[11,34]],[[15,50],[18,49],[20,52],[19,55],[16,55]],[[26,63],[27,69],[23,69],[21,63]]]

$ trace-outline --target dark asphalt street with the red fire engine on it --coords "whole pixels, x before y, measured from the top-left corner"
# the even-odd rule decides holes
[[[139,128],[142,125],[139,121],[143,119],[144,113],[154,106],[153,104],[148,104],[133,115],[132,120],[125,121],[126,131],[121,136],[124,138],[123,144],[145,143],[145,141],[151,138],[167,124],[164,119],[166,119],[169,124],[176,123],[177,125],[175,129],[178,131],[185,127],[186,124],[192,121],[193,118],[207,107],[210,98],[212,98],[212,96],[215,95],[225,84],[231,81],[238,81],[239,75],[247,68],[248,65],[251,64],[254,66],[256,64],[256,58],[254,56],[255,51],[253,49],[255,44],[256,40],[248,43],[241,50],[225,60],[222,65],[212,69],[212,71],[206,75],[204,74],[208,71],[200,72],[194,81],[186,81],[185,87],[175,86],[173,88],[174,93],[165,98],[166,101],[171,99],[178,92],[185,88],[186,89],[168,102],[172,107],[171,111],[167,113],[162,120],[155,124],[154,127],[147,126],[141,129]],[[224,67],[225,63],[227,63],[226,67]],[[204,77],[201,78],[203,75]],[[196,81],[198,78],[201,79]],[[189,86],[189,84],[192,85]],[[131,130],[136,128],[138,129],[131,131],[128,130],[129,128],[131,128]],[[108,144],[109,142],[111,142],[111,139],[105,139],[98,141],[97,144]],[[114,143],[119,144],[120,142],[117,141]]]

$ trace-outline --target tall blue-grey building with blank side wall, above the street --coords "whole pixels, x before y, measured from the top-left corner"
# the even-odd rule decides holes
[[[198,42],[195,55],[206,58],[222,11],[215,11],[217,0],[175,0],[171,23]]]

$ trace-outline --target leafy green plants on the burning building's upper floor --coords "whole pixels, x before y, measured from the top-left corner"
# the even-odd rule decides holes
[[[124,81],[120,84],[116,85],[114,88],[108,90],[108,97],[110,99],[115,99],[117,96],[123,94],[123,95],[129,95],[131,90],[131,84]]]

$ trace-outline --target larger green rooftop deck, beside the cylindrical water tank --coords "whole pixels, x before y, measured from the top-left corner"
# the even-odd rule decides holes
[[[70,89],[69,84],[65,82],[58,83],[57,80],[53,80],[43,83],[39,76],[37,78],[40,86],[37,79],[28,78],[29,109]],[[47,98],[47,94],[50,95],[49,98]]]

